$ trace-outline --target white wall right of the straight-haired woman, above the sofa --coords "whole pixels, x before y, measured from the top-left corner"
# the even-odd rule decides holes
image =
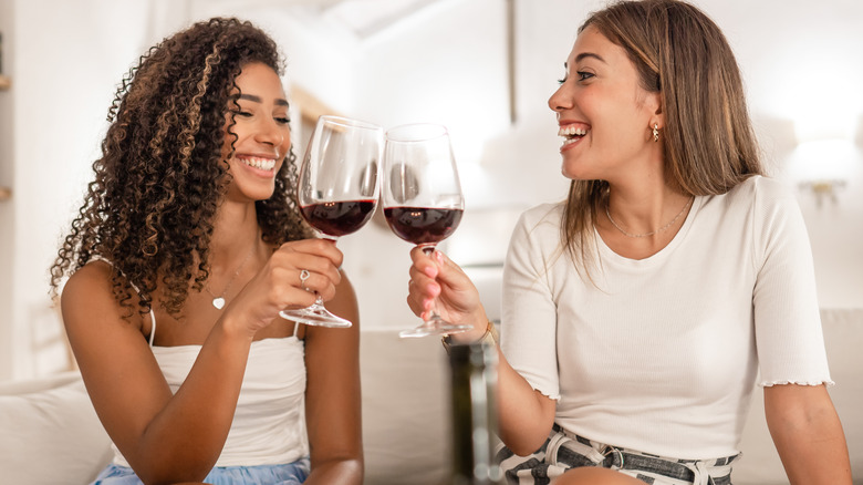
[[[844,180],[835,200],[819,205],[808,188],[798,190],[798,200],[822,307],[863,306],[863,3],[699,4],[725,28],[736,50],[772,174],[792,186],[821,178]],[[840,132],[854,140],[838,148],[830,143],[798,144]]]

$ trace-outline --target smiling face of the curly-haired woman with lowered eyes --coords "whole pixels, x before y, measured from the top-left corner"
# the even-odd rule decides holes
[[[281,79],[263,63],[246,64],[235,82],[240,95],[236,104],[229,102],[226,121],[229,132],[222,147],[222,156],[230,156],[228,165],[232,176],[227,197],[240,202],[263,200],[272,196],[275,174],[291,146],[288,100]]]

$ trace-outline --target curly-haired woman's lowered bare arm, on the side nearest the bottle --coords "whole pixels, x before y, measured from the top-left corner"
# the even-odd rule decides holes
[[[347,278],[326,308],[351,328],[306,327],[305,421],[312,472],[306,484],[363,483],[360,313]]]

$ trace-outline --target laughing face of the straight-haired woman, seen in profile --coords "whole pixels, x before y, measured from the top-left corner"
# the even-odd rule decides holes
[[[549,99],[558,114],[562,172],[573,179],[632,176],[627,167],[662,158],[649,127],[664,126],[658,93],[642,87],[635,65],[620,45],[588,27],[566,60],[566,75]]]

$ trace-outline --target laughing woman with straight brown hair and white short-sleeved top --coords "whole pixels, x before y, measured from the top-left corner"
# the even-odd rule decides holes
[[[579,30],[557,114],[568,198],[526,211],[503,272],[498,454],[509,483],[730,484],[756,384],[792,484],[851,484],[792,193],[765,176],[717,25],[620,1]],[[441,252],[408,305],[498,345]]]

